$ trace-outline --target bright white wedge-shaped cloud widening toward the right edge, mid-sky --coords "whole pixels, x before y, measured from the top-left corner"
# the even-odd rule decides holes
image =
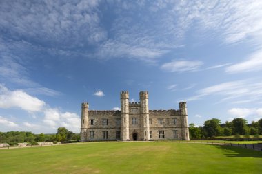
[[[236,63],[225,69],[228,73],[262,71],[262,49],[248,57],[248,60]]]

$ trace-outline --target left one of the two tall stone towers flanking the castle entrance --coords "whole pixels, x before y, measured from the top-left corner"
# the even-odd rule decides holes
[[[129,139],[129,94],[128,91],[121,91],[121,140]]]

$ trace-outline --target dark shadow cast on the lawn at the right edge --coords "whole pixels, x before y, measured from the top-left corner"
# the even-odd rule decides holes
[[[210,145],[212,146],[212,145]],[[227,157],[260,157],[262,158],[261,151],[254,151],[252,149],[245,149],[237,146],[219,146],[213,145],[218,149],[224,151],[224,155]]]

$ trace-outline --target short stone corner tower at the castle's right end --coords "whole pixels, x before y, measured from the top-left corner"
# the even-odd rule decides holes
[[[188,109],[186,107],[186,102],[179,102],[179,110],[181,113],[182,139],[189,141]]]

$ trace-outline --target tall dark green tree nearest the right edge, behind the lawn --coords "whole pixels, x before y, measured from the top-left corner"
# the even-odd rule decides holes
[[[247,120],[243,118],[234,118],[232,120],[232,133],[234,135],[239,134],[239,135],[245,135],[248,132],[248,129],[245,128],[245,126],[248,124]]]

